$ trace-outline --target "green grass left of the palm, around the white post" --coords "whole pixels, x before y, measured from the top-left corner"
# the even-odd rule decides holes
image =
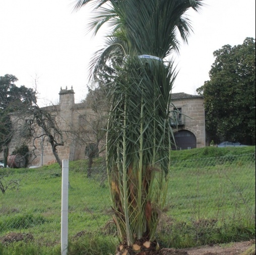
[[[70,236],[103,228],[110,219],[105,212],[110,206],[108,187],[88,180],[85,165],[85,161],[70,164]],[[5,177],[6,182],[19,179],[20,185],[18,190],[0,194],[0,236],[24,231],[40,243],[52,244],[60,239],[61,177],[54,175],[57,171],[58,167],[50,171],[42,167],[30,173],[24,169],[24,174],[9,173]]]

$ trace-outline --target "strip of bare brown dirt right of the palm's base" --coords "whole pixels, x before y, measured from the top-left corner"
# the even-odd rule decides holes
[[[255,240],[246,242],[235,242],[229,244],[202,246],[187,249],[162,249],[161,255],[236,255],[242,254]],[[255,254],[255,253],[254,253]]]

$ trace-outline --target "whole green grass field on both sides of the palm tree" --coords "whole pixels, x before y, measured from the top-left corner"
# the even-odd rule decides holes
[[[254,152],[255,146],[173,151],[167,205],[157,232],[160,244],[189,247],[254,236]],[[111,213],[103,161],[96,159],[90,179],[87,160],[70,162],[69,254],[103,254],[103,247],[109,254],[118,242],[114,226],[104,228]],[[0,254],[16,254],[19,249],[30,250],[22,254],[59,254],[59,166],[6,168],[0,176],[5,185],[18,183],[0,194]],[[33,239],[4,241],[11,232]]]

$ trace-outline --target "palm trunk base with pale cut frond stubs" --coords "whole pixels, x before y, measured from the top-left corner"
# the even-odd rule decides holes
[[[120,244],[116,255],[160,255],[159,244],[148,241],[146,238],[136,241],[133,246]]]

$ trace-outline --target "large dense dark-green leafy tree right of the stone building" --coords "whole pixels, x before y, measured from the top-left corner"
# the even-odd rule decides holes
[[[219,139],[255,140],[255,39],[214,51],[205,98],[206,129]]]

